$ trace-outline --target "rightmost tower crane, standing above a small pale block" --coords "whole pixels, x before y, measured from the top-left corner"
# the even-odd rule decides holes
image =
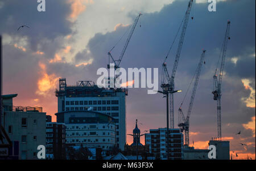
[[[226,32],[224,41],[221,48],[221,54],[218,59],[218,63],[220,62],[220,72],[217,75],[217,68],[215,70],[214,76],[213,76],[213,100],[217,100],[217,126],[218,126],[218,140],[221,140],[221,82],[222,82],[222,76],[224,71],[224,65],[225,65],[225,58],[226,58],[226,48],[228,45],[229,37],[229,28],[230,28],[230,21],[228,20],[228,24],[226,26]]]

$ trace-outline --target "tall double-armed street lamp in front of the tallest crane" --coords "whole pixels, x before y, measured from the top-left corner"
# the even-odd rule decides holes
[[[166,151],[167,151],[167,160],[168,160],[168,156],[169,156],[169,148],[168,148],[168,136],[169,136],[169,94],[173,94],[173,93],[176,93],[176,92],[181,92],[181,90],[176,90],[176,91],[171,91],[171,86],[170,84],[162,84],[162,88],[163,88],[163,91],[158,91],[159,93],[162,93],[163,95],[166,95],[166,115],[167,115],[167,131],[166,131]]]

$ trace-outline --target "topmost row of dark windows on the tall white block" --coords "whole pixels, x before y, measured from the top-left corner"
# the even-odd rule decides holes
[[[118,105],[118,100],[89,100],[89,101],[66,101],[66,105]]]

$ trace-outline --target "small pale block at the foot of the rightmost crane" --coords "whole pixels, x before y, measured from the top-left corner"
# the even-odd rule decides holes
[[[213,139],[209,141],[209,146],[216,147],[216,160],[229,160],[229,141]]]

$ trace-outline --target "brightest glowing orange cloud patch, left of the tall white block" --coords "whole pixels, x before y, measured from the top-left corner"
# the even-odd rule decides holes
[[[41,77],[38,79],[38,90],[36,94],[38,95],[49,95],[49,91],[56,88],[56,83],[59,78],[55,74],[48,75],[46,72],[46,65],[39,63],[41,68]]]

